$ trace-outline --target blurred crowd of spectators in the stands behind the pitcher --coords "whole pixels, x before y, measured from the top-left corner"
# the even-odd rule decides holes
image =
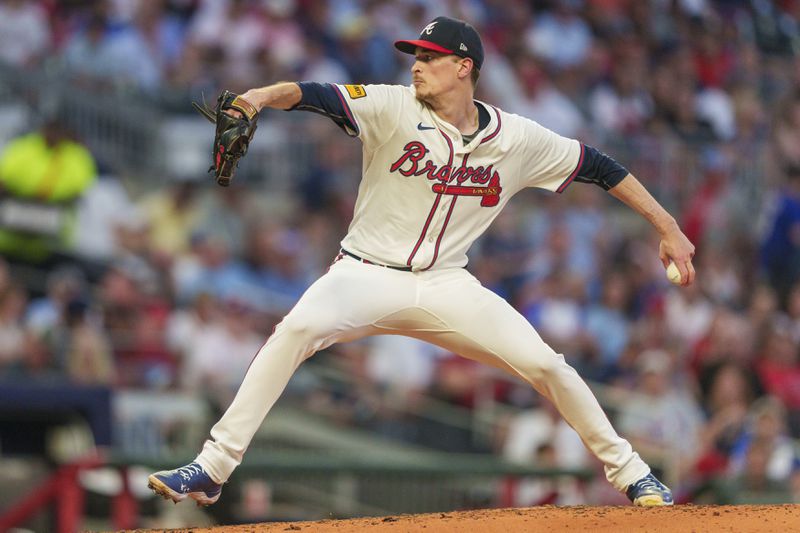
[[[468,268],[611,387],[618,429],[680,480],[680,497],[800,501],[800,1],[2,0],[0,60],[153,101],[281,79],[407,83],[392,42],[443,12],[483,36],[481,99],[605,149],[673,200],[698,277],[671,286],[657,235],[584,184],[521,194]],[[0,375],[203,390],[224,405],[346,232],[358,176],[344,136],[324,131],[286,198],[191,181],[133,197],[110,179],[45,198],[72,202],[77,230],[60,252],[77,260],[38,258],[55,267],[36,290],[12,275],[31,258],[4,252]],[[664,147],[668,164],[654,165]],[[12,149],[0,154],[7,191],[22,179],[5,164]],[[453,354],[394,337],[332,351],[357,394],[305,390],[321,411],[475,451],[398,406],[424,395],[472,409],[488,395],[524,408],[499,425],[495,451],[591,464],[529,391]],[[519,494],[580,501],[541,483]]]

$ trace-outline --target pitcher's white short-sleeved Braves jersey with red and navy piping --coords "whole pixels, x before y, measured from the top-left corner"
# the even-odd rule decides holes
[[[467,264],[467,250],[525,187],[561,191],[582,145],[481,103],[490,123],[469,143],[413,87],[336,86],[363,143],[363,178],[342,247],[413,270]]]

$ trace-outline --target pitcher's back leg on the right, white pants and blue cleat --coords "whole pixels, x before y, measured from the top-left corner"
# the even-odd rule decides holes
[[[663,485],[663,490],[650,490],[652,483],[645,482],[652,477],[650,468],[617,434],[583,379],[508,302],[463,269],[426,276],[420,305],[445,326],[437,331],[414,332],[413,336],[522,377],[553,402],[587,448],[603,462],[614,487],[628,492],[629,497],[636,492],[631,497],[634,503],[671,503],[671,494]],[[653,481],[657,482],[655,478]]]

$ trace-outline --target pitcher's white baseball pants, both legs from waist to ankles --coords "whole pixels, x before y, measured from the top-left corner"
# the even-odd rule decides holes
[[[337,342],[380,334],[415,337],[520,376],[555,404],[618,490],[650,472],[564,356],[465,269],[403,272],[348,256],[275,328],[197,462],[215,481],[227,481],[300,363]]]

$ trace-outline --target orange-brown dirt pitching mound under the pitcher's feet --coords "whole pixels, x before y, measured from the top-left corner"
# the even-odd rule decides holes
[[[319,522],[273,522],[173,531],[187,533],[789,532],[800,531],[800,505],[676,505],[649,509],[631,506],[544,506]]]

